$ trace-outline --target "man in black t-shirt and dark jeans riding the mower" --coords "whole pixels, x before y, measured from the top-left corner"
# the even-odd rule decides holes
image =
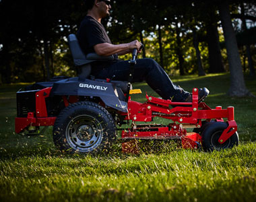
[[[100,56],[114,56],[113,61],[92,64],[92,75],[98,79],[113,78],[127,81],[130,68],[129,61],[119,60],[118,55],[131,53],[133,48],[139,50],[141,43],[138,40],[133,40],[127,44],[112,44],[104,26],[100,23],[102,18],[110,15],[110,0],[86,0],[85,3],[88,13],[77,32],[77,39],[82,50],[86,55],[96,53]],[[174,85],[164,69],[152,59],[137,59],[133,82],[140,81],[146,81],[163,99],[171,99],[173,102],[192,102],[191,93]],[[199,102],[208,94],[209,91],[206,88],[200,88]]]

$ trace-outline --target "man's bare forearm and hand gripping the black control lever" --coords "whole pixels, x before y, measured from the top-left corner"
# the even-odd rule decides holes
[[[96,44],[94,46],[95,52],[100,56],[109,56],[117,53],[118,55],[124,55],[126,53],[130,53],[133,48],[137,48],[139,50],[141,43],[138,40],[133,40],[127,44]]]

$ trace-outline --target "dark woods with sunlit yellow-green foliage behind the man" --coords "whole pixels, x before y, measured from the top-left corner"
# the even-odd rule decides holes
[[[219,2],[113,1],[110,18],[102,23],[114,44],[143,41],[146,46],[140,57],[155,59],[169,74],[229,71]],[[243,53],[239,56],[243,71],[251,72],[251,64],[256,63],[256,3],[227,3],[238,50]],[[67,36],[77,32],[85,15],[83,0],[1,0],[0,82],[43,81],[56,75],[75,75]],[[129,55],[122,59],[129,59]]]

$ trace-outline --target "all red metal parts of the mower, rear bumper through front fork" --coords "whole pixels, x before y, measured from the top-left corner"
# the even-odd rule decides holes
[[[15,132],[20,133],[28,126],[50,126],[54,125],[56,117],[48,117],[45,98],[48,98],[51,88],[44,88],[36,92],[36,112],[28,113],[26,118],[15,119]],[[237,131],[234,121],[234,107],[222,109],[216,106],[210,108],[204,102],[198,103],[198,89],[193,88],[192,102],[172,102],[148,96],[147,102],[139,103],[128,100],[127,112],[121,112],[125,120],[133,121],[133,127],[122,131],[122,139],[181,139],[184,148],[195,148],[201,142],[201,136],[197,133],[187,133],[185,128],[201,127],[201,120],[224,121],[227,119],[228,128],[220,136],[219,142],[224,143],[231,135]],[[63,96],[65,106],[77,102],[76,96],[67,98]],[[170,119],[173,123],[168,126],[159,125],[135,125],[135,122],[151,122],[154,117]],[[148,128],[147,128],[148,127]]]

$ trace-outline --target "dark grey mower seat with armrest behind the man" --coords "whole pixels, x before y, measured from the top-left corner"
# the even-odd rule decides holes
[[[69,42],[69,48],[71,51],[71,55],[73,57],[73,62],[77,69],[77,75],[80,79],[88,79],[90,77],[90,73],[92,71],[91,63],[94,61],[109,61],[113,60],[113,55],[110,56],[100,56],[96,53],[89,53],[88,55],[84,55],[81,47],[79,46],[79,42],[75,34],[69,34],[67,37]],[[106,82],[104,79],[95,79],[96,81]],[[111,83],[115,83],[115,85],[123,92],[128,91],[128,81],[110,81]],[[132,89],[132,88],[131,88]]]

